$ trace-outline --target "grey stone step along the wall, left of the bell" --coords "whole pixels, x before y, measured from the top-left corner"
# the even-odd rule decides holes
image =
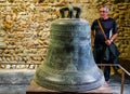
[[[0,69],[0,84],[29,84],[35,69]]]

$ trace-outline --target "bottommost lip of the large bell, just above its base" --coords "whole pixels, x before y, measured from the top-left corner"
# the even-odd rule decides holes
[[[35,81],[36,82],[36,81]],[[104,78],[101,78],[99,81],[84,83],[84,84],[76,84],[76,85],[68,85],[68,84],[52,84],[46,83],[44,85],[41,82],[36,82],[38,85],[42,86],[43,89],[60,91],[60,92],[86,92],[95,90],[104,84]]]

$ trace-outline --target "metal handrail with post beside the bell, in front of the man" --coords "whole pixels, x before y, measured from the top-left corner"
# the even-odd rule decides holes
[[[120,85],[120,94],[123,94],[123,88],[125,88],[125,73],[130,76],[130,72],[127,71],[121,65],[119,64],[98,64],[98,66],[118,66],[122,72],[121,72],[121,85]]]

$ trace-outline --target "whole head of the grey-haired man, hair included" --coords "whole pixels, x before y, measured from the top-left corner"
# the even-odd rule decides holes
[[[103,18],[103,19],[106,19],[106,18],[108,18],[108,8],[107,6],[105,6],[105,5],[102,5],[100,9],[99,9],[99,11],[100,11],[100,15],[101,15],[101,17]]]

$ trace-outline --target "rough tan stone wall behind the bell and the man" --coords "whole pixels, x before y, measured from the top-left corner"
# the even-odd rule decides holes
[[[129,0],[0,0],[0,67],[35,68],[41,64],[48,52],[50,25],[68,2],[82,9],[81,18],[90,25],[99,17],[98,6],[106,4],[118,24],[120,57],[130,58]]]

